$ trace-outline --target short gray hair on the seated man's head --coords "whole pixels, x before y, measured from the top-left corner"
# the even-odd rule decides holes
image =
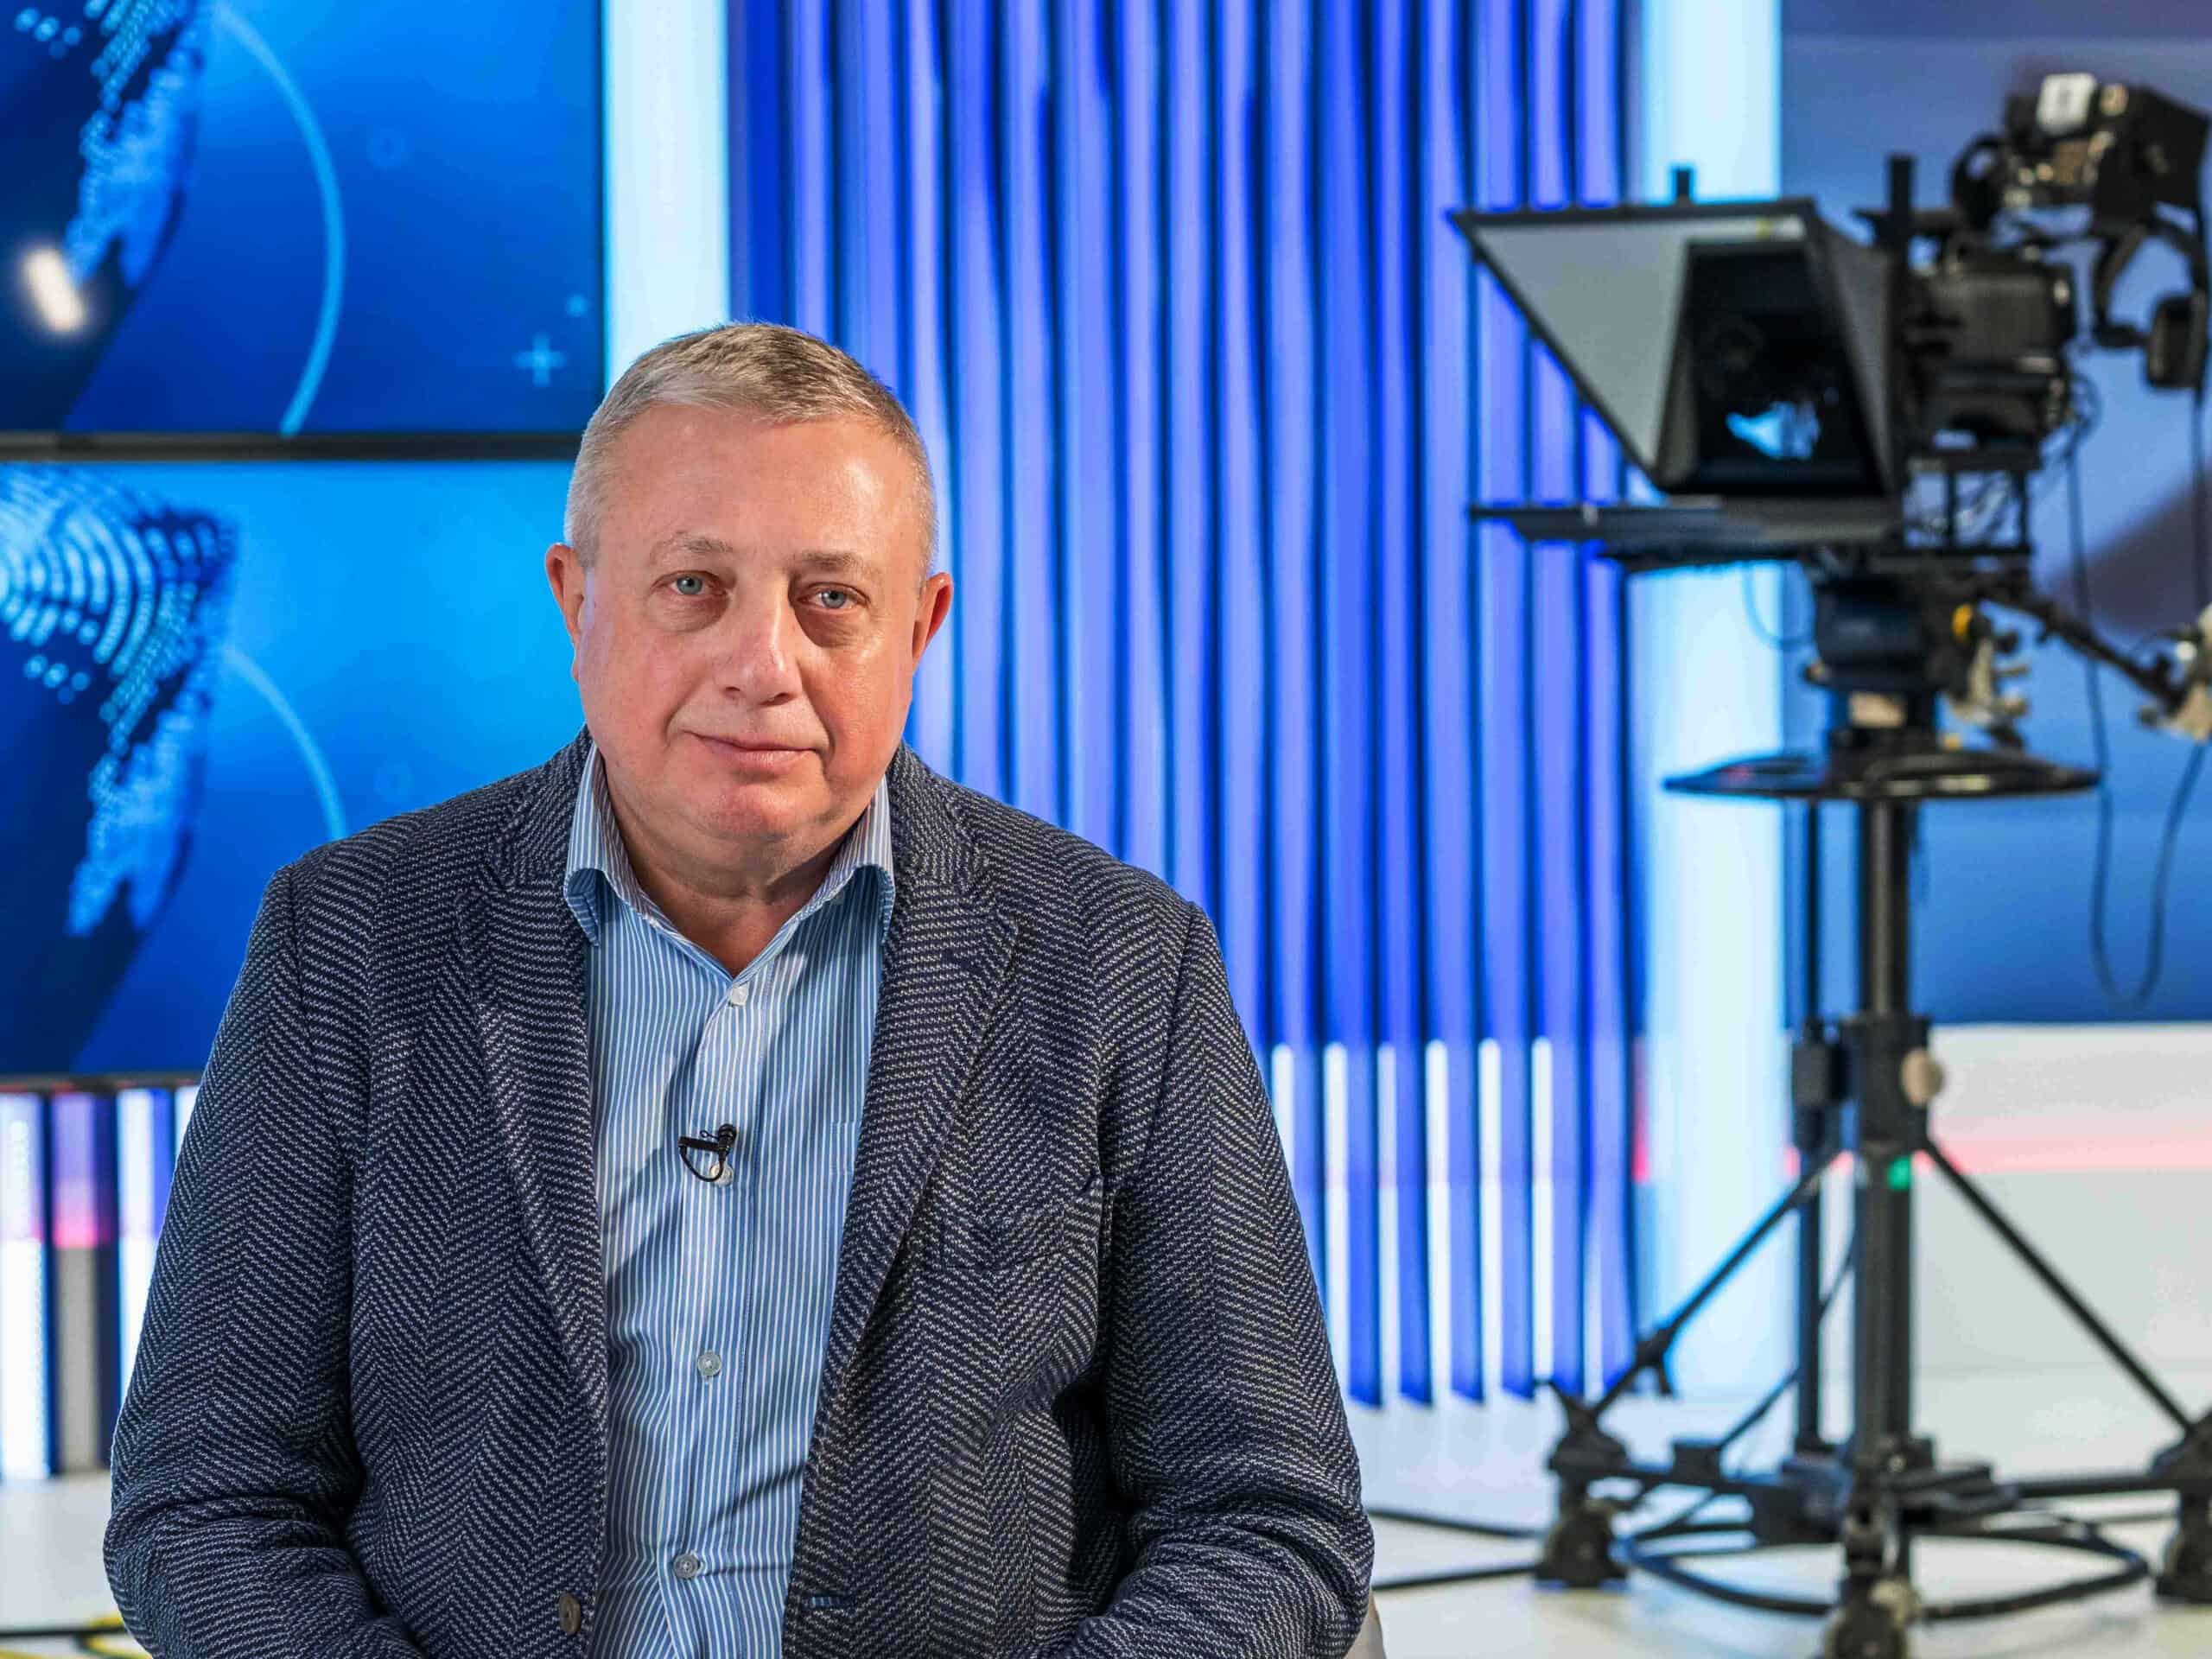
[[[845,352],[781,323],[721,323],[677,334],[644,352],[608,387],[584,427],[568,473],[562,540],[588,564],[606,511],[606,469],[615,440],[646,409],[741,409],[776,425],[799,420],[865,420],[914,462],[922,493],[922,571],[938,568],[938,491],[929,451],[914,416],[883,380]]]

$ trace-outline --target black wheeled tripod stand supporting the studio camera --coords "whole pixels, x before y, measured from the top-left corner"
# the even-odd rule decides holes
[[[1916,604],[1902,588],[1860,584],[1854,604]],[[1969,1179],[1929,1130],[1942,1071],[1929,1053],[1929,1022],[1911,1011],[1909,860],[1920,810],[1938,801],[2070,794],[2095,774],[2008,750],[1960,750],[1936,732],[1936,692],[1887,695],[1878,726],[1843,726],[1825,754],[1776,754],[1670,779],[1686,794],[1805,803],[1807,880],[1818,878],[1820,803],[1849,803],[1858,838],[1858,1004],[1838,1020],[1818,1013],[1818,900],[1807,909],[1807,1018],[1792,1055],[1796,1183],[1730,1250],[1657,1329],[1630,1367],[1595,1400],[1562,1391],[1566,1431],[1548,1469],[1557,1509],[1544,1537],[1537,1582],[1597,1588],[1641,1568],[1683,1588],[1767,1613],[1825,1617],[1825,1659],[1902,1659],[1918,1621],[1978,1619],[2119,1590],[2154,1577],[2174,1601],[2212,1604],[2212,1413],[2192,1418],[2128,1345]],[[1891,719],[1902,717],[1902,719]],[[1816,887],[1814,887],[1816,891]],[[1854,1243],[1845,1270],[1854,1287],[1851,1431],[1823,1438],[1820,1316],[1823,1177],[1854,1159]],[[2011,1254],[2039,1279],[2104,1354],[2163,1411],[2179,1440],[2148,1469],[2057,1480],[2000,1480],[1989,1464],[1947,1464],[1913,1427],[1913,1170],[1936,1168]],[[1677,1440],[1666,1464],[1641,1464],[1606,1433],[1604,1413],[1639,1378],[1668,1383],[1668,1358],[1719,1290],[1796,1217],[1796,1438],[1770,1471],[1730,1471],[1725,1442]],[[1745,1425],[1747,1427],[1747,1425]],[[1601,1484],[1734,1495],[1747,1524],[1674,1524],[1615,1537],[1621,1504]],[[2062,1498],[2172,1493],[2177,1524],[2157,1568],[2081,1522],[2035,1506]],[[2017,1517],[2028,1515],[2026,1524]],[[2008,1520],[2013,1517],[2013,1520]],[[1666,1537],[1747,1533],[1741,1548],[1834,1544],[1843,1577],[1834,1601],[1750,1593],[1686,1566],[1659,1548]],[[1933,1601],[1913,1579],[1922,1537],[2044,1544],[2104,1559],[2101,1571],[2006,1597]],[[1710,1555],[1699,1551],[1697,1555]],[[1725,1551],[1721,1551],[1725,1553]]]

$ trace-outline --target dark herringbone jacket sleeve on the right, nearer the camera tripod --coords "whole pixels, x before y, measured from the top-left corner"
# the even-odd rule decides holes
[[[1197,907],[1110,1274],[1106,1420],[1135,1562],[1064,1652],[1338,1659],[1374,1535],[1274,1115]]]

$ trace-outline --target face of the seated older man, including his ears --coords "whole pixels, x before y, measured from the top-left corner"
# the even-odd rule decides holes
[[[925,502],[872,425],[657,407],[615,445],[588,573],[546,557],[584,719],[657,843],[805,858],[898,748],[949,606]]]

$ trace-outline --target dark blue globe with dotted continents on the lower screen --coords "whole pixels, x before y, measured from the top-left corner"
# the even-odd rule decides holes
[[[0,467],[0,1073],[84,1046],[192,843],[234,529]]]

